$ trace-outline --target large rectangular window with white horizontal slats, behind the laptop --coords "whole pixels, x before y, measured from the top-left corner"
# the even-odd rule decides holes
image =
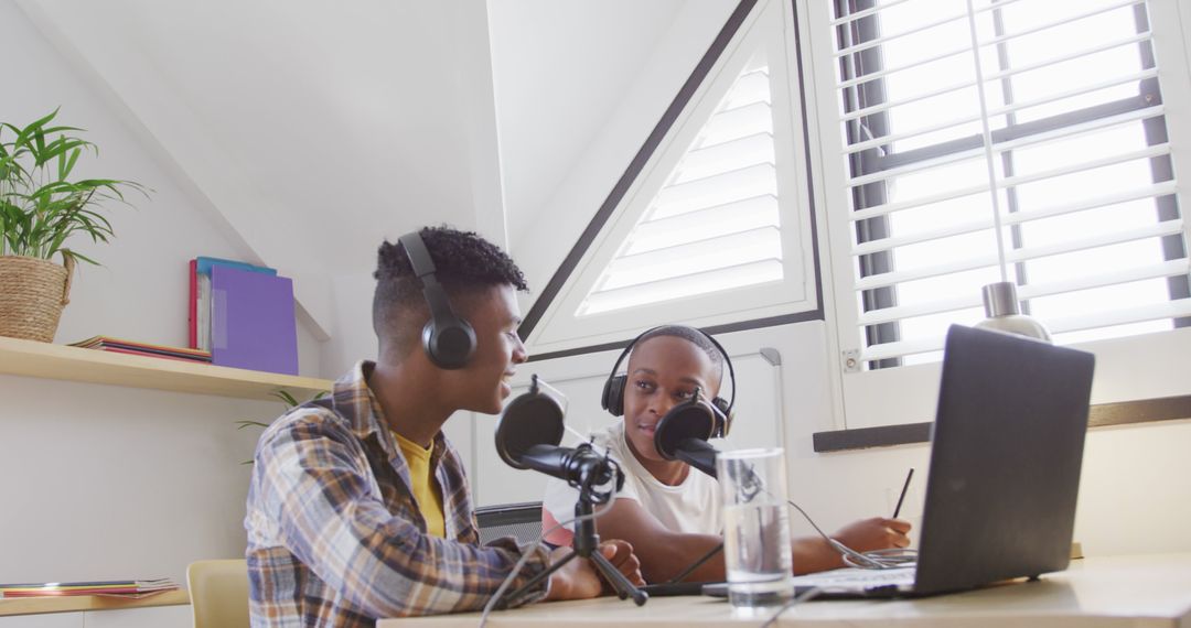
[[[835,0],[813,24],[834,48],[818,88],[846,199],[829,206],[841,347],[861,368],[936,359],[997,281],[1060,344],[1191,325],[1167,127],[1191,102],[1160,80],[1171,62],[1185,81],[1185,58],[1155,55],[1148,8]]]

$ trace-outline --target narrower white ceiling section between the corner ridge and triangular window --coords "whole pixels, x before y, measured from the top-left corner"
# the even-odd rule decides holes
[[[625,98],[684,4],[490,2],[501,169],[515,246],[567,172],[582,167],[584,149]]]

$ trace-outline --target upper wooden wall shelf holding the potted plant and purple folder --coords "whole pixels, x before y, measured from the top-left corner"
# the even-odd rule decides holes
[[[260,400],[274,400],[272,394],[278,390],[286,390],[299,400],[308,398],[331,390],[333,384],[330,379],[129,356],[15,338],[0,338],[0,373]]]

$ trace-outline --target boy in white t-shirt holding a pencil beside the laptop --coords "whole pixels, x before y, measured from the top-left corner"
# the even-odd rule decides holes
[[[721,351],[699,329],[675,325],[642,334],[629,354],[624,419],[593,434],[596,446],[606,448],[625,476],[615,503],[599,517],[599,533],[632,545],[647,582],[666,582],[723,541],[716,479],[686,463],[662,458],[654,447],[657,422],[671,408],[688,401],[697,389],[707,398],[718,395],[723,362]],[[542,504],[543,529],[572,519],[576,500],[575,489],[551,479]],[[833,538],[866,552],[906,547],[908,532],[906,521],[872,517],[841,528]],[[547,538],[555,545],[569,545],[570,539],[572,530],[566,528]],[[796,573],[843,566],[838,552],[821,536],[794,539],[792,550]],[[685,579],[723,580],[723,553]]]

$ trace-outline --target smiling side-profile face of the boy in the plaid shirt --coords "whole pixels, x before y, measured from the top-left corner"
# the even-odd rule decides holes
[[[447,372],[456,384],[453,389],[460,408],[497,414],[512,394],[509,381],[517,365],[529,357],[517,335],[520,309],[513,287],[507,284],[488,288],[468,301],[470,307],[461,315],[475,329],[475,353],[467,366]]]

